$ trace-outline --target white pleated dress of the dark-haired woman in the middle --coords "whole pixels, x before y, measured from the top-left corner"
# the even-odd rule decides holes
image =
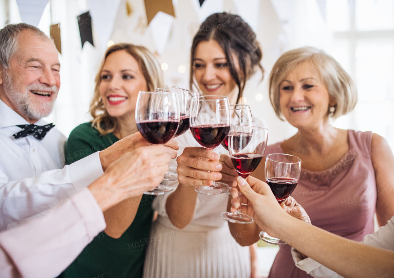
[[[253,125],[266,127],[253,115]],[[201,147],[191,131],[177,137],[178,155],[185,147]],[[229,154],[222,146],[217,154]],[[176,159],[171,160],[177,165]],[[174,186],[178,182],[173,182]],[[227,211],[228,194],[198,194],[193,220],[184,229],[176,228],[167,216],[168,194],[157,196],[152,203],[158,218],[152,224],[145,255],[145,278],[249,278],[249,246],[240,246],[230,234],[228,222],[219,213]],[[242,235],[239,235],[242,236]]]

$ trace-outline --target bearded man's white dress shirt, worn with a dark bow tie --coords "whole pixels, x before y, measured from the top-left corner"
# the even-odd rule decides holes
[[[65,202],[103,173],[98,152],[64,166],[66,138],[56,127],[43,140],[12,136],[28,124],[0,100],[0,231]]]

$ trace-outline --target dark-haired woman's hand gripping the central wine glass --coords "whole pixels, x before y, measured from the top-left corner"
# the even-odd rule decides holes
[[[219,155],[203,147],[186,147],[177,158],[178,181],[182,185],[213,185],[222,178]],[[211,172],[208,172],[211,171]]]

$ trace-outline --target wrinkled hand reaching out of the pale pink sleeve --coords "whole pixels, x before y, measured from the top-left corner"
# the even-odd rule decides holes
[[[112,162],[88,187],[102,210],[159,185],[171,161],[167,149],[163,145],[139,147]]]

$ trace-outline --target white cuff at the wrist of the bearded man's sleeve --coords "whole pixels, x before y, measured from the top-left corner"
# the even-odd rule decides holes
[[[70,164],[70,177],[76,192],[81,191],[104,173],[99,151]]]

